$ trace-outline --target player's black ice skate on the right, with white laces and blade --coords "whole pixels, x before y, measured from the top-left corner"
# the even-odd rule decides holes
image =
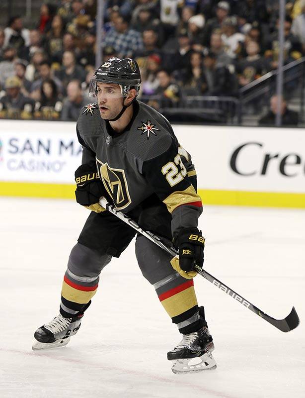
[[[199,314],[204,320],[203,307],[199,308]],[[212,356],[213,350],[213,338],[204,320],[204,326],[198,332],[183,335],[180,343],[167,353],[167,359],[173,361],[171,367],[173,373],[200,372],[216,368],[216,361]]]

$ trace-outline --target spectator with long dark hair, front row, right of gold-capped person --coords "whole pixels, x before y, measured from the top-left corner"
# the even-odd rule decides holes
[[[44,80],[40,88],[40,103],[38,110],[35,111],[35,118],[58,120],[62,108],[63,102],[54,80]]]

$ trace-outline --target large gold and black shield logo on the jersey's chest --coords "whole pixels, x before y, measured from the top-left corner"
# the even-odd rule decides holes
[[[118,209],[123,209],[131,203],[125,171],[114,169],[108,163],[96,159],[99,178],[102,180],[106,191]]]

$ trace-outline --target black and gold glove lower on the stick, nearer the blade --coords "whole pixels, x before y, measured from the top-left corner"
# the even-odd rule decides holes
[[[174,245],[179,250],[179,258],[174,257],[170,263],[183,278],[194,278],[197,275],[195,265],[200,267],[203,265],[204,242],[205,239],[197,228],[183,228],[174,239]]]

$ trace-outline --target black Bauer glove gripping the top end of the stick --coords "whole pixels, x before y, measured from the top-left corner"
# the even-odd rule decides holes
[[[76,202],[96,213],[105,211],[98,201],[101,196],[105,196],[106,191],[104,184],[98,177],[94,161],[78,167],[75,172],[75,181]]]

